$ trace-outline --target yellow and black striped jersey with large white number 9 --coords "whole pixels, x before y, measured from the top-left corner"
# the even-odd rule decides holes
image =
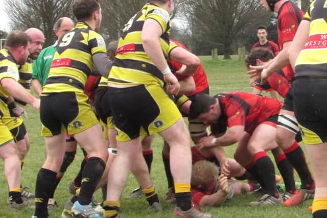
[[[92,56],[106,54],[103,37],[87,23],[79,22],[58,42],[48,80],[41,95],[53,92],[83,92],[87,77],[94,69]]]

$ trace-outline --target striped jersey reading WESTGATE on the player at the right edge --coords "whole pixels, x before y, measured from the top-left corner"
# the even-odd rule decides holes
[[[310,21],[310,31],[296,59],[295,77],[327,76],[327,0],[313,1],[303,19]]]

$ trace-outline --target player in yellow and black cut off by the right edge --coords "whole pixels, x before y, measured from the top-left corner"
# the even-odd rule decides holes
[[[326,20],[326,1],[313,1],[300,23],[291,44],[292,50],[289,51],[290,63],[295,69],[294,113],[316,181],[313,218],[327,217]]]

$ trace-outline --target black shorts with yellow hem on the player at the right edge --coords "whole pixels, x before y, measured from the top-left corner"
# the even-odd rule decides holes
[[[293,82],[294,112],[306,144],[327,141],[327,77],[298,77]]]

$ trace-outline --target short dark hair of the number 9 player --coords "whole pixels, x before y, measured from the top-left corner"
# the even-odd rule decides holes
[[[100,10],[100,0],[74,0],[73,14],[77,21],[85,21]]]

